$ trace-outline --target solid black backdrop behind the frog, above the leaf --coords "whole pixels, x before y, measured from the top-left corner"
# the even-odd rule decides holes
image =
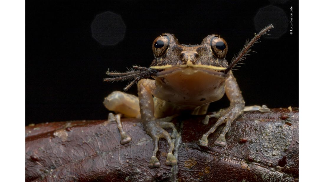
[[[258,16],[258,10],[268,5],[281,8],[284,16],[278,12]],[[101,45],[92,37],[92,21],[106,11],[120,15],[126,25],[124,38],[114,46]],[[258,33],[260,22],[273,23],[269,34],[282,35],[263,36],[253,46],[258,53],[251,52],[245,65],[234,71],[246,105],[298,106],[298,1],[28,1],[26,124],[106,119],[104,97],[122,90],[127,82],[103,82],[105,72],[148,67],[152,42],[161,33],[174,34],[181,44],[200,44],[208,35],[221,35],[230,61]],[[136,92],[136,87],[128,91]],[[228,105],[224,97],[210,111]]]

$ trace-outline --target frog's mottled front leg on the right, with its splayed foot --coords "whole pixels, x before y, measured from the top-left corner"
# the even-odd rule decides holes
[[[229,77],[225,81],[225,93],[227,98],[231,102],[230,107],[221,110],[218,113],[207,115],[205,117],[203,123],[207,124],[209,118],[219,117],[220,115],[222,115],[214,124],[214,126],[210,128],[207,133],[203,134],[201,140],[198,141],[198,145],[207,146],[208,136],[214,133],[214,131],[217,129],[219,125],[221,125],[222,123],[226,123],[226,126],[224,127],[222,133],[215,141],[215,145],[222,146],[222,147],[226,146],[226,140],[225,140],[226,133],[228,132],[233,121],[243,113],[245,102],[243,100],[241,91],[237,85],[236,79],[233,76],[233,73],[230,72],[229,74],[230,74]]]

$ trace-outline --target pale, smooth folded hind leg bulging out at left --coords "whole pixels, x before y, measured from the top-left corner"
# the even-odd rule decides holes
[[[105,107],[126,117],[141,118],[138,97],[121,91],[111,92],[104,100]]]

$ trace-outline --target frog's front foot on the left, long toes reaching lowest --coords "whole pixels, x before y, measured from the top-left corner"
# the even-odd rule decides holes
[[[148,135],[151,136],[153,139],[153,144],[154,144],[154,150],[153,150],[153,155],[151,157],[151,160],[149,162],[149,167],[154,168],[154,167],[159,167],[161,163],[156,157],[156,152],[159,150],[159,140],[160,138],[164,138],[167,140],[168,145],[169,145],[169,151],[167,155],[167,160],[165,161],[166,165],[176,165],[177,164],[177,159],[176,157],[172,154],[172,151],[174,149],[174,143],[171,139],[179,136],[178,131],[173,123],[169,123],[168,120],[172,120],[173,117],[167,117],[167,118],[161,118],[161,119],[155,119],[153,121],[149,122],[144,122],[145,126],[145,131]],[[172,128],[172,134],[170,134],[164,130],[163,128]]]

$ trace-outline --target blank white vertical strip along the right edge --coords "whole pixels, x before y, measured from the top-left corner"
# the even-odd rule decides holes
[[[323,173],[324,38],[322,1],[299,1],[299,180]]]

